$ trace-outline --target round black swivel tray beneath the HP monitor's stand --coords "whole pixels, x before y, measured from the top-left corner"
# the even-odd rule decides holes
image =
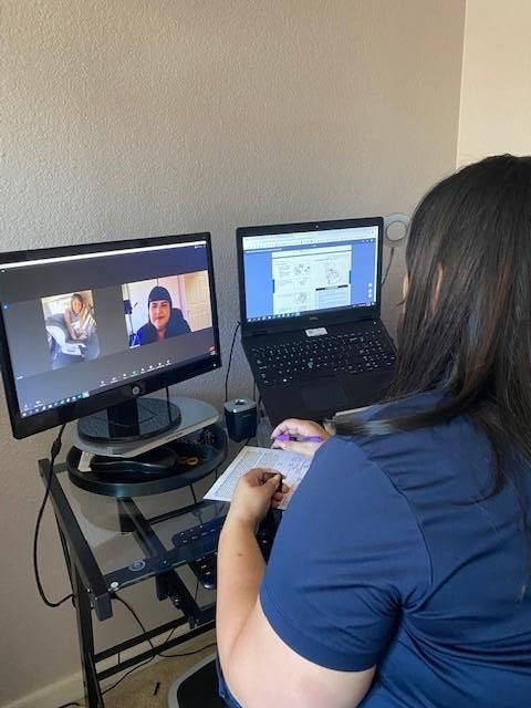
[[[82,451],[66,456],[70,479],[82,489],[111,497],[143,497],[188,487],[212,472],[227,455],[227,435],[217,424],[133,458],[94,455],[80,471]]]

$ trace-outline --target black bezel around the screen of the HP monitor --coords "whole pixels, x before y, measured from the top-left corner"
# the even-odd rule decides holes
[[[82,398],[73,403],[64,404],[38,413],[32,416],[22,417],[17,394],[15,379],[11,366],[11,355],[7,339],[3,320],[3,308],[0,302],[0,368],[2,372],[6,400],[11,423],[13,436],[17,439],[27,438],[37,433],[42,433],[50,428],[71,423],[93,413],[98,413],[111,406],[131,402],[145,394],[160,391],[166,386],[171,386],[180,382],[195,378],[201,374],[216,371],[221,367],[221,352],[219,343],[218,308],[216,296],[216,283],[214,273],[214,259],[211,236],[208,231],[199,233],[184,233],[179,236],[156,236],[119,241],[102,241],[94,243],[83,243],[79,246],[59,246],[53,248],[32,249],[29,251],[10,251],[0,253],[0,267],[3,263],[15,263],[32,260],[48,260],[51,258],[66,258],[71,256],[104,253],[115,250],[131,250],[138,248],[150,248],[156,246],[170,246],[181,243],[194,243],[205,241],[207,244],[207,270],[209,274],[210,301],[212,310],[212,330],[216,354],[208,355],[205,360],[194,361],[188,364],[176,364],[175,367],[165,368],[149,374],[144,379],[133,379],[127,383],[116,385],[112,389],[95,393],[88,398]]]

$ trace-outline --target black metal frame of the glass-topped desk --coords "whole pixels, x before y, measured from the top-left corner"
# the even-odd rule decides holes
[[[43,478],[44,485],[50,482],[50,462],[49,460],[39,460],[39,471]],[[85,689],[85,699],[88,708],[105,708],[103,694],[100,681],[104,680],[119,671],[128,669],[142,662],[149,659],[160,652],[178,646],[184,642],[198,636],[215,626],[215,603],[205,608],[200,608],[195,598],[189,593],[183,580],[179,577],[176,569],[184,565],[188,561],[195,560],[199,555],[211,552],[214,550],[214,539],[210,537],[208,542],[199,548],[175,548],[166,550],[158,539],[154,525],[160,520],[167,520],[171,514],[162,514],[146,519],[136,506],[133,499],[116,500],[119,506],[121,518],[131,522],[131,530],[136,535],[136,540],[145,552],[146,572],[142,580],[154,577],[156,581],[158,600],[169,598],[175,606],[183,613],[173,622],[150,629],[146,634],[136,635],[125,642],[96,652],[94,647],[94,633],[92,612],[94,611],[100,621],[107,620],[113,615],[112,600],[113,587],[119,587],[122,584],[131,584],[127,581],[137,581],[138,574],[131,569],[124,568],[115,573],[104,575],[96,562],[96,559],[82,533],[77,520],[72,511],[69,500],[58,480],[58,473],[66,473],[65,467],[56,466],[53,472],[50,487],[50,498],[52,500],[55,520],[58,523],[61,544],[66,562],[66,568],[72,585],[72,604],[75,608],[77,621],[77,634],[80,641],[81,665],[83,673],[83,683]],[[208,504],[209,502],[202,502]],[[174,516],[189,512],[191,509],[200,507],[192,504],[191,507],[183,507],[174,512]],[[222,519],[220,517],[221,528]],[[215,539],[217,542],[217,538]],[[164,559],[160,561],[160,554],[164,551]],[[158,561],[152,560],[157,553]],[[163,568],[160,568],[160,564]],[[147,638],[153,641],[171,629],[176,629],[184,625],[189,625],[189,631],[168,642],[162,643],[154,648],[144,650],[143,653],[125,660],[116,662],[110,668],[98,670],[98,664],[113,656],[118,658],[118,653],[131,649],[146,642]]]

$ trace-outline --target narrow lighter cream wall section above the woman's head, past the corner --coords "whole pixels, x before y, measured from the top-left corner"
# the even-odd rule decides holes
[[[468,0],[458,162],[531,154],[531,2]]]

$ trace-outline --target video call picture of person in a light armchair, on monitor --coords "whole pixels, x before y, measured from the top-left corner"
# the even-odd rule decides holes
[[[52,369],[100,356],[91,290],[42,298],[41,305]]]

